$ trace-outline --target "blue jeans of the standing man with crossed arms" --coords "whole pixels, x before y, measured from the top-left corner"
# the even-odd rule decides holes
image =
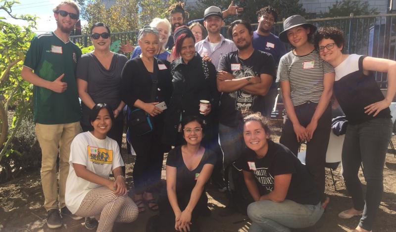
[[[229,182],[229,188],[234,190],[230,165],[242,155],[245,141],[242,137],[242,127],[229,127],[219,123],[220,147],[223,151],[223,166],[225,179]]]

